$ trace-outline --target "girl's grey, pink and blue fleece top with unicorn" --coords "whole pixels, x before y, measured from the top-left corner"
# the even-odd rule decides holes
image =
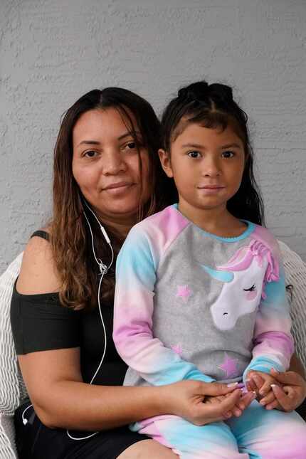
[[[130,231],[117,259],[114,341],[125,385],[241,381],[293,352],[280,251],[265,228],[206,233],[169,206]]]

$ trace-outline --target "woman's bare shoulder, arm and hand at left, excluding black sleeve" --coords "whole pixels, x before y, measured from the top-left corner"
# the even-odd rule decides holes
[[[59,286],[50,244],[32,238],[23,255],[17,290],[29,295],[56,292]],[[236,391],[223,405],[208,406],[202,403],[206,394],[228,394],[233,389],[199,381],[162,387],[90,386],[81,376],[78,348],[31,352],[20,355],[19,363],[34,409],[51,428],[96,431],[166,413],[201,424],[222,418],[240,397]]]

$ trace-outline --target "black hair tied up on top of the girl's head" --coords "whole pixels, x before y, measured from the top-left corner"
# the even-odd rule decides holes
[[[181,88],[178,98],[185,101],[208,102],[208,99],[217,99],[222,102],[233,101],[233,91],[230,86],[213,83],[209,85],[206,81],[197,81],[185,88]]]

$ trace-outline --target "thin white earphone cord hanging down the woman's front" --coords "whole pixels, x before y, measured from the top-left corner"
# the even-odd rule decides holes
[[[100,363],[99,365],[97,366],[97,369],[95,370],[95,374],[93,375],[92,379],[90,380],[90,383],[89,384],[93,384],[93,381],[95,380],[95,377],[97,376],[98,372],[100,371],[100,368],[101,368],[101,365],[103,363],[103,360],[104,360],[104,357],[105,357],[105,352],[106,352],[106,345],[107,345],[107,339],[106,339],[106,329],[105,329],[105,324],[104,324],[104,320],[103,320],[103,316],[102,316],[102,310],[101,310],[101,303],[100,303],[100,291],[101,291],[101,285],[102,285],[102,280],[103,280],[103,276],[105,275],[105,273],[107,273],[107,271],[110,269],[110,267],[112,266],[112,263],[114,261],[114,250],[112,250],[112,244],[110,243],[110,238],[107,236],[107,232],[105,231],[105,228],[101,225],[99,219],[97,218],[97,216],[95,215],[95,213],[93,212],[92,209],[90,209],[90,206],[88,206],[88,204],[85,202],[85,205],[88,207],[88,209],[90,210],[91,213],[93,213],[93,216],[95,217],[95,219],[97,220],[97,223],[99,223],[99,226],[100,226],[100,230],[102,232],[102,235],[104,236],[105,238],[105,241],[107,242],[107,244],[110,246],[110,250],[111,250],[111,253],[112,253],[112,259],[110,260],[110,264],[107,266],[105,265],[105,263],[102,263],[102,260],[100,260],[100,258],[97,258],[97,256],[95,255],[95,243],[94,243],[94,240],[93,240],[93,231],[91,229],[91,226],[90,226],[90,222],[88,220],[88,216],[86,215],[85,212],[83,212],[83,215],[85,216],[85,220],[88,224],[88,228],[89,228],[89,231],[90,231],[90,237],[91,237],[91,243],[92,243],[92,249],[93,249],[93,256],[95,257],[95,261],[97,263],[97,265],[99,266],[99,269],[100,269],[100,280],[99,280],[99,286],[97,288],[97,305],[98,305],[98,308],[99,308],[99,314],[100,314],[100,320],[101,320],[101,323],[102,323],[102,327],[103,327],[103,334],[104,334],[104,350],[103,350],[103,354],[102,354],[102,357],[101,357],[101,360],[100,360]],[[28,423],[28,419],[26,419],[24,417],[24,414],[26,413],[26,411],[28,411],[29,408],[31,408],[31,406],[33,405],[29,405],[26,407],[25,410],[23,410],[23,413],[21,415],[22,417],[22,422],[23,424],[26,426],[26,424]],[[75,438],[73,436],[70,435],[69,433],[69,429],[67,429],[67,435],[69,438],[71,438],[71,440],[88,440],[88,438],[91,438],[95,435],[97,435],[98,432],[94,432],[94,433],[90,433],[90,435],[88,436],[85,436],[85,437],[79,437],[79,438]]]

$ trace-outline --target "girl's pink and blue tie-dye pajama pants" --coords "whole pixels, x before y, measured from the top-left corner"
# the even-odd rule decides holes
[[[133,424],[181,459],[306,459],[306,423],[295,412],[265,410],[253,401],[239,418],[194,426],[177,416]]]

